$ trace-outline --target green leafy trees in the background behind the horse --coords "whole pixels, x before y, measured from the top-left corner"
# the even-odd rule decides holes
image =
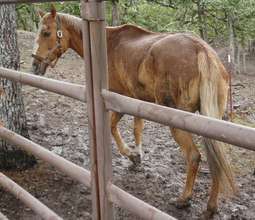
[[[56,7],[80,15],[79,2],[56,3]],[[36,8],[48,10],[50,4],[17,6],[19,28],[36,30]],[[134,23],[158,32],[193,32],[213,46],[228,47],[237,72],[254,51],[255,0],[109,0],[107,22]]]

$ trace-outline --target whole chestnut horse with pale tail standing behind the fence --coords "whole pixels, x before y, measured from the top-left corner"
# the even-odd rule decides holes
[[[32,71],[43,75],[71,48],[83,57],[81,19],[40,11],[40,27],[33,51]],[[109,89],[132,98],[222,119],[227,105],[229,74],[216,52],[190,33],[156,33],[135,25],[106,28]],[[119,152],[131,160],[141,157],[143,119],[134,118],[135,147],[122,139],[117,124],[122,114],[112,112],[111,132]],[[170,127],[180,145],[187,166],[184,190],[176,200],[178,208],[190,205],[201,160],[192,134]],[[220,192],[236,192],[224,144],[204,138],[212,187],[204,217],[217,211]]]

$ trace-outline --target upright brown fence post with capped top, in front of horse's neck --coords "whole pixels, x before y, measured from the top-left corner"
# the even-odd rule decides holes
[[[110,123],[109,113],[101,95],[102,89],[108,89],[104,9],[104,2],[101,0],[81,0],[91,147],[93,219],[112,220],[113,207],[106,190],[112,178]]]

